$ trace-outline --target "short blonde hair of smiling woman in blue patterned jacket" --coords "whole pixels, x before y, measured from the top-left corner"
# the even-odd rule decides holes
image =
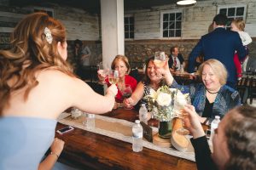
[[[212,71],[217,75],[218,81],[221,85],[226,84],[228,71],[220,61],[218,61],[217,59],[208,59],[203,62],[198,70],[200,78],[202,77],[202,71],[205,65],[209,65],[212,68]]]

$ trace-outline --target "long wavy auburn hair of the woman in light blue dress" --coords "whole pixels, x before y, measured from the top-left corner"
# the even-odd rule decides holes
[[[46,38],[46,27],[52,42]],[[60,21],[45,13],[28,14],[20,20],[10,39],[11,48],[0,50],[0,115],[3,108],[9,106],[12,92],[26,87],[24,99],[27,99],[32,88],[38,85],[37,71],[52,68],[74,77],[57,50],[58,42],[66,42],[66,29]],[[13,83],[9,83],[10,80]]]

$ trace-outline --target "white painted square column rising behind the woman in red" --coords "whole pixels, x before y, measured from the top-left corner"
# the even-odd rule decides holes
[[[117,54],[125,54],[124,0],[101,0],[102,64],[110,68]]]

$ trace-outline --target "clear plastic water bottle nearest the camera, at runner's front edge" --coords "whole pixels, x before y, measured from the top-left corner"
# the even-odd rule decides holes
[[[132,126],[132,150],[139,152],[143,150],[143,127],[139,120]]]

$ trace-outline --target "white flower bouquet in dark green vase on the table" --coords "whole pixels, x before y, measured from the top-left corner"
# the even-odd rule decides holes
[[[154,118],[160,121],[159,136],[171,138],[174,96],[177,89],[162,86],[157,91],[150,89],[150,94],[145,96],[148,100],[148,109]]]

